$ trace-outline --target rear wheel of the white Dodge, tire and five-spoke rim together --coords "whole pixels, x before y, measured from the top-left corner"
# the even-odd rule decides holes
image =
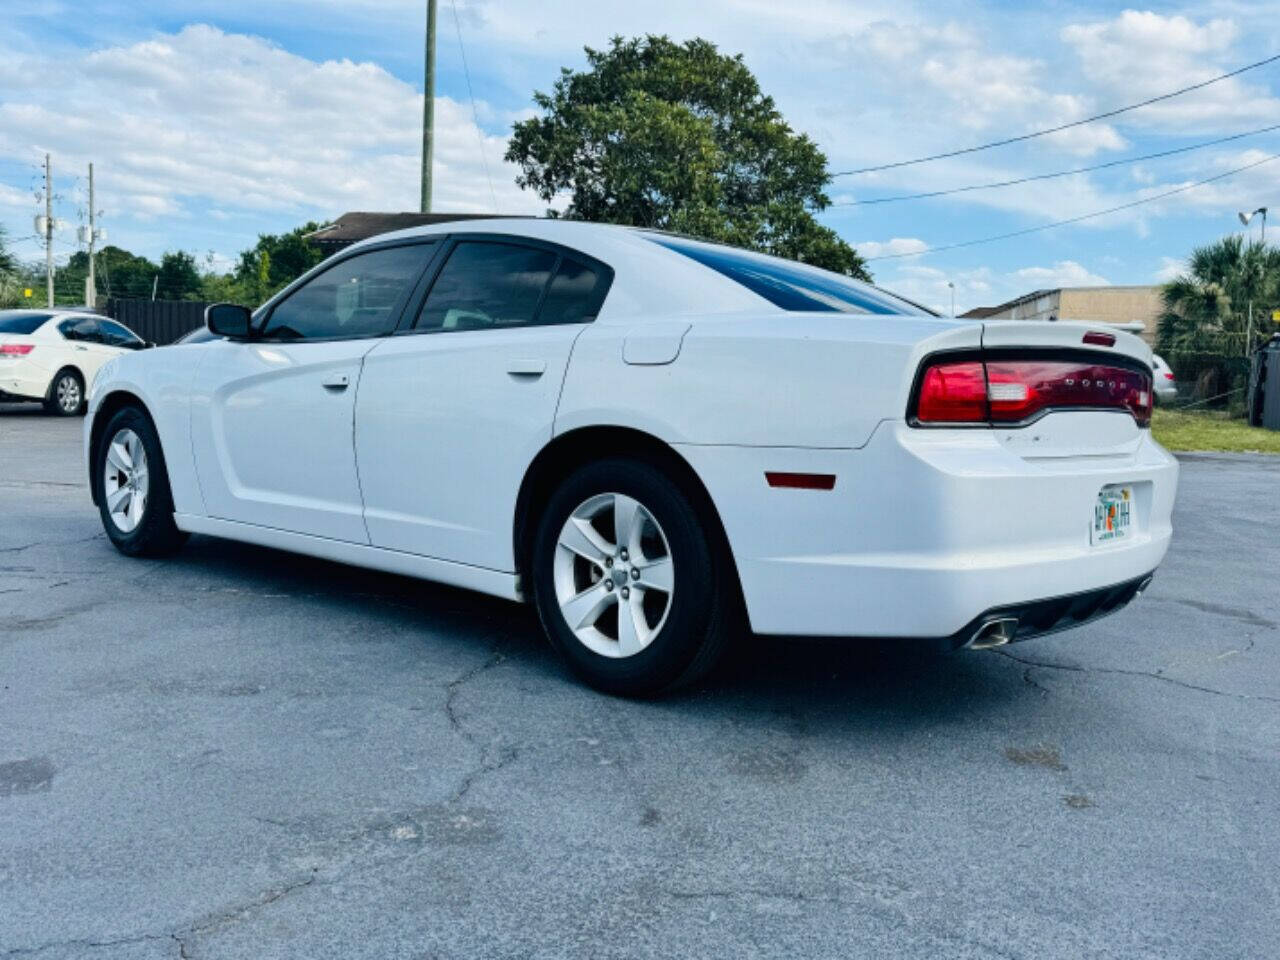
[[[609,460],[550,498],[534,544],[534,602],[593,686],[648,696],[705,673],[730,630],[727,570],[686,493],[655,465]]]

